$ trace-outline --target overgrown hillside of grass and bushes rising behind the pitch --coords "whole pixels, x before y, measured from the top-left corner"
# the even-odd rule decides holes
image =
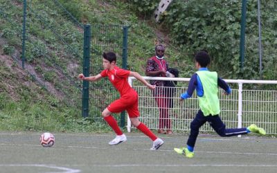
[[[80,28],[66,15],[48,4],[54,0],[29,1],[37,15],[62,35],[70,48],[28,14],[28,65],[33,66],[44,84],[62,93],[49,92],[43,84],[20,68],[12,57],[20,59],[22,0],[0,0],[0,129],[10,131],[111,131],[105,122],[81,117],[81,93],[66,76],[75,81],[82,72]],[[59,0],[82,24],[120,24],[129,26],[127,69],[144,75],[145,63],[154,55],[154,43],[166,44],[170,67],[180,77],[194,73],[193,55],[206,49],[213,57],[211,70],[222,78],[259,79],[258,21],[256,1],[247,1],[247,44],[243,71],[239,68],[241,1],[175,0],[157,24],[152,14],[159,1],[154,0]],[[277,12],[276,1],[261,1],[263,79],[276,80]],[[1,11],[1,9],[5,11]],[[3,17],[5,12],[6,17]],[[48,57],[48,58],[46,58]],[[57,67],[58,66],[58,67]],[[72,68],[72,66],[74,68]],[[81,83],[78,84],[81,87]],[[98,116],[100,115],[93,115]]]

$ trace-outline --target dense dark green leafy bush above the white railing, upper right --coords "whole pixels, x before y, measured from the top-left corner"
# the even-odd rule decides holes
[[[274,43],[277,15],[272,14],[274,8],[267,8],[274,4],[276,1],[262,3],[262,21],[270,24],[263,26],[262,41],[270,42],[270,47],[277,45]],[[239,60],[241,6],[242,2],[238,0],[204,0],[201,3],[177,0],[172,2],[163,19],[177,44],[185,45],[191,54],[206,49],[213,57],[213,68],[222,71],[224,77],[256,79],[259,78],[257,2],[247,1],[246,57],[242,71]],[[268,62],[277,58],[269,55],[267,49],[264,47],[265,73]]]

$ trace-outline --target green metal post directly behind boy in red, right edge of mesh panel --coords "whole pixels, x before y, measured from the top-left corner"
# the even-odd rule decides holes
[[[122,68],[127,69],[127,41],[128,41],[128,26],[123,26],[123,53],[122,53]],[[125,126],[125,111],[120,113],[120,127]]]

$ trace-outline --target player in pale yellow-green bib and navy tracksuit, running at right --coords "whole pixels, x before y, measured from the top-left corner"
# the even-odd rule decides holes
[[[218,78],[216,72],[208,71],[207,66],[210,62],[211,58],[206,51],[199,51],[195,55],[195,67],[198,71],[190,78],[188,90],[186,93],[181,94],[180,98],[181,101],[190,98],[196,89],[200,107],[195,119],[190,123],[190,136],[188,137],[187,147],[174,149],[178,154],[183,154],[188,158],[193,158],[193,150],[199,134],[199,128],[207,121],[217,134],[224,137],[248,134],[249,132],[265,135],[265,129],[256,125],[238,129],[226,129],[226,125],[224,125],[219,116],[220,100],[217,96],[218,86],[224,89],[224,94],[226,95],[231,93],[231,88],[224,80]]]

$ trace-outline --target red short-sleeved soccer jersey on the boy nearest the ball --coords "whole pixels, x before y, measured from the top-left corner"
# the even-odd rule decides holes
[[[118,66],[115,66],[113,70],[103,70],[100,75],[102,77],[108,77],[111,84],[119,91],[120,95],[123,96],[130,91],[134,91],[129,85],[127,78],[129,77],[131,71],[126,71],[125,69],[120,69]]]

